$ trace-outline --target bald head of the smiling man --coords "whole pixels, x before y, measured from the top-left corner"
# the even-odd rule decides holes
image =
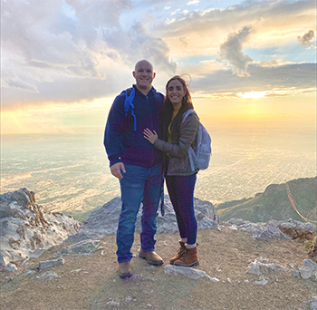
[[[137,82],[137,88],[139,91],[148,93],[152,88],[152,81],[156,75],[153,73],[152,63],[149,63],[147,60],[139,61],[136,63],[132,74]]]

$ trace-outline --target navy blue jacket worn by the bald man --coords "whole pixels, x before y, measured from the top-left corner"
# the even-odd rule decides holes
[[[118,95],[109,111],[104,132],[103,144],[106,148],[110,166],[122,161],[125,164],[150,168],[162,160],[162,153],[143,136],[143,131],[149,128],[159,134],[159,124],[164,96],[154,87],[148,95],[139,92],[136,85],[133,100],[134,114],[137,118],[137,131],[133,130],[134,119],[124,115],[125,93]]]

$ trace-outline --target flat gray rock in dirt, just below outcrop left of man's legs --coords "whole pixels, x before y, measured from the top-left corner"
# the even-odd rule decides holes
[[[63,247],[60,251],[53,254],[53,258],[62,257],[63,255],[91,257],[97,250],[100,240],[83,240],[72,246]]]

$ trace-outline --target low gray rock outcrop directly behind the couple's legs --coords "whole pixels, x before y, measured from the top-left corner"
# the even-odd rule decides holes
[[[178,231],[178,224],[172,204],[168,196],[164,197],[165,215],[162,217],[159,212],[158,233],[174,233]],[[216,216],[216,209],[209,201],[194,199],[195,215],[198,229],[218,228],[219,218]],[[67,241],[80,241],[84,239],[98,238],[102,235],[115,234],[118,228],[121,200],[119,197],[110,200],[101,208],[93,211],[89,218],[82,222],[82,226],[75,236],[68,237]],[[141,228],[141,211],[136,222],[136,229]]]

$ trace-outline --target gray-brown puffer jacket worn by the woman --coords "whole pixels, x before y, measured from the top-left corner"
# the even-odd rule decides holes
[[[186,120],[180,125],[179,140],[172,140],[168,143],[163,140],[156,140],[154,147],[158,150],[168,152],[168,176],[190,176],[197,173],[197,169],[192,171],[188,158],[188,149],[197,142],[197,130],[199,120],[195,113],[187,116]]]

